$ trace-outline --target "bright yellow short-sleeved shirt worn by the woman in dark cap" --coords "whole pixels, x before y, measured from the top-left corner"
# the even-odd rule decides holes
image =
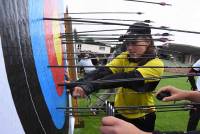
[[[164,64],[162,60],[159,58],[151,59],[143,66],[160,66],[161,68],[136,68],[138,66],[137,63],[130,62],[128,60],[128,52],[124,52],[121,55],[117,56],[114,60],[108,63],[106,66],[110,68],[112,73],[120,73],[120,72],[130,72],[137,71],[139,72],[143,78],[152,78],[152,77],[160,77],[164,72]],[[131,68],[112,68],[110,66],[131,66]],[[135,66],[135,68],[134,68]],[[153,91],[156,86],[154,86],[155,82],[159,82],[159,80],[145,80],[144,84],[141,85],[142,88],[149,88],[149,91]],[[141,105],[154,105],[154,97],[151,92],[136,92],[137,90],[131,88],[120,87],[115,96],[115,107],[122,106],[141,106]],[[137,87],[138,88],[138,87]],[[152,88],[152,89],[151,89]],[[123,110],[118,111],[121,115],[127,118],[139,118],[146,115],[149,112],[153,112],[152,110],[142,111],[142,110]]]

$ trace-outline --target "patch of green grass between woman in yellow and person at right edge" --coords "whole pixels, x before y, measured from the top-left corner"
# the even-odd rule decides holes
[[[190,84],[187,78],[173,78],[161,80],[158,89],[166,85],[172,85],[177,88],[184,90],[190,89]],[[174,102],[169,102],[173,104]],[[156,104],[168,104],[166,102],[161,102],[156,100]],[[178,111],[178,112],[158,112],[156,119],[156,130],[182,130],[185,131],[188,121],[188,111]]]

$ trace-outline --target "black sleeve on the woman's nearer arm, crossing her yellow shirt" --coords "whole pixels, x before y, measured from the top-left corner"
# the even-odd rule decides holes
[[[128,78],[141,78],[140,80],[133,81],[119,81],[116,82],[115,79],[128,79]],[[99,83],[86,83],[80,85],[86,94],[90,94],[91,92],[98,89],[107,89],[107,88],[116,88],[116,87],[125,87],[133,89],[137,92],[149,92],[155,89],[158,84],[158,81],[151,83],[144,83],[143,76],[137,70],[130,72],[121,72],[112,75],[108,75],[100,80],[111,80],[109,82],[99,82]]]

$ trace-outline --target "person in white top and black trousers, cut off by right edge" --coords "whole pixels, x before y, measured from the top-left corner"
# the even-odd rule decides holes
[[[193,64],[192,68],[190,69],[189,73],[197,74],[200,73],[200,59]],[[200,91],[200,76],[198,76],[197,80],[195,81],[194,76],[189,76],[188,80],[191,84],[191,89],[193,91]],[[190,110],[190,117],[188,120],[187,131],[196,130],[200,119],[200,109],[192,109]]]

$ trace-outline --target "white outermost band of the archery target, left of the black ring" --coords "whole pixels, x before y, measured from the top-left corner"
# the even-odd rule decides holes
[[[16,108],[12,99],[10,86],[8,83],[5,62],[3,59],[1,37],[0,37],[0,74],[3,79],[0,79],[0,130],[3,134],[15,132],[23,134],[24,130],[21,125],[19,116],[17,115]],[[12,131],[11,131],[12,130]]]

